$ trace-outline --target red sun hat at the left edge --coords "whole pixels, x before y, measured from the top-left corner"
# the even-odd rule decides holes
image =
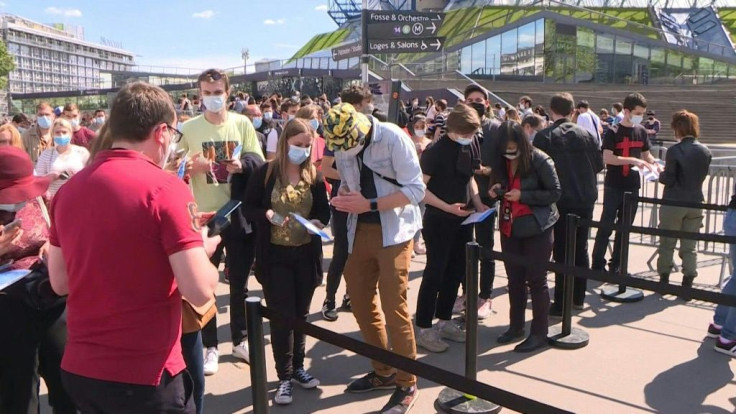
[[[33,175],[33,162],[20,148],[0,147],[0,204],[16,204],[44,194],[54,177]]]

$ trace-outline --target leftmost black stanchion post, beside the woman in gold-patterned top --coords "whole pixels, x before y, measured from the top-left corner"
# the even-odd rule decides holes
[[[253,395],[253,414],[268,414],[268,381],[266,378],[266,344],[263,340],[261,298],[245,299],[245,321],[248,328],[248,355],[250,357],[250,384]]]

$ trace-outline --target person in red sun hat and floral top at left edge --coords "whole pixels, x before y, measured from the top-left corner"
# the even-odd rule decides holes
[[[49,227],[40,196],[54,177],[34,176],[30,157],[16,147],[0,147],[0,165],[0,272],[45,269]],[[40,374],[53,412],[76,414],[61,382],[64,304],[34,309],[8,287],[0,292],[0,332],[0,413],[38,412]]]

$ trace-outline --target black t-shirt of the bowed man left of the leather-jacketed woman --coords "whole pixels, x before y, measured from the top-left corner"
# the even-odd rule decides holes
[[[468,203],[468,182],[473,177],[472,153],[470,146],[462,146],[443,135],[439,141],[422,153],[422,173],[432,178],[427,189],[447,204]],[[445,213],[427,205],[427,214]]]

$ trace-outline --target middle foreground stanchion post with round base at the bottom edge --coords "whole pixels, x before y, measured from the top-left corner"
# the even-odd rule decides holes
[[[476,380],[478,359],[478,269],[480,245],[465,245],[465,377]],[[452,323],[452,322],[450,322]],[[440,410],[453,413],[491,414],[501,411],[501,406],[475,396],[444,388],[435,404]]]

